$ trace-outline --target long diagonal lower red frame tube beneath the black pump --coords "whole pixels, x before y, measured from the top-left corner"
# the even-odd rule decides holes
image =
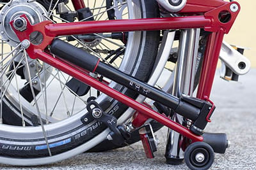
[[[73,76],[77,80],[83,81],[87,85],[94,87],[100,92],[103,92],[104,94],[113,97],[114,99],[120,101],[121,103],[124,103],[125,105],[133,108],[134,110],[139,111],[143,115],[146,115],[149,118],[153,118],[157,122],[160,122],[161,124],[169,127],[170,129],[173,129],[173,131],[179,132],[183,136],[186,136],[187,138],[191,139],[192,141],[203,141],[202,136],[196,136],[186,127],[183,127],[182,125],[173,122],[173,120],[170,120],[168,117],[164,117],[163,115],[157,113],[151,108],[148,108],[147,106],[138,103],[134,99],[125,96],[124,94],[116,91],[115,89],[108,87],[108,85],[105,85],[104,83],[95,80],[94,78],[83,73],[76,67],[72,67],[67,63],[59,60],[58,58],[54,58],[51,55],[44,53],[40,50],[36,50],[35,56],[37,59],[40,59],[43,62],[46,62],[47,64],[50,64],[51,66],[56,67],[57,69],[60,69],[61,71],[69,74],[70,76]]]

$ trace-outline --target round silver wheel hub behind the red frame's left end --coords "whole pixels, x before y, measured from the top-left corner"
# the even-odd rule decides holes
[[[22,14],[25,14],[28,17],[29,22],[34,25],[46,20],[43,15],[46,15],[47,11],[44,6],[36,1],[28,2],[27,0],[13,0],[6,4],[0,11],[0,32],[1,37],[6,39],[11,46],[17,46],[20,41],[13,31],[10,22],[12,20],[18,20],[19,16]],[[19,28],[19,25],[16,26]],[[21,28],[20,31],[24,29],[26,28]],[[37,33],[31,34],[32,39],[35,39],[37,36]]]

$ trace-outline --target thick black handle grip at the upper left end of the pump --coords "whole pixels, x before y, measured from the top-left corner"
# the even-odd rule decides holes
[[[65,41],[60,39],[54,39],[51,45],[51,53],[60,57],[61,59],[67,60],[75,64],[76,66],[82,67],[90,72],[95,70],[99,58],[94,55],[72,46]]]

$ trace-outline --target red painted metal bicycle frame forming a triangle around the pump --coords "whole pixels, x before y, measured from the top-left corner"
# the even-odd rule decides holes
[[[83,1],[72,1],[74,7],[77,9],[84,8]],[[236,6],[237,10],[233,10],[232,6]],[[186,17],[168,17],[168,18],[143,18],[134,20],[108,20],[108,21],[86,21],[86,22],[72,22],[65,24],[52,24],[50,21],[41,22],[36,25],[29,24],[26,15],[21,17],[26,18],[28,25],[26,31],[17,31],[17,36],[20,41],[29,39],[29,35],[34,31],[39,31],[44,36],[44,40],[40,45],[31,44],[26,50],[29,57],[32,59],[40,59],[47,64],[50,64],[57,69],[73,76],[77,80],[83,81],[87,85],[107,94],[110,97],[124,103],[125,105],[139,111],[143,117],[153,118],[157,122],[166,125],[170,129],[179,132],[183,136],[192,139],[192,141],[203,141],[202,136],[193,134],[189,129],[183,127],[173,120],[157,113],[156,111],[144,106],[134,99],[131,99],[120,92],[111,89],[104,83],[101,83],[94,78],[84,73],[83,69],[74,67],[67,62],[63,62],[58,58],[52,57],[49,53],[44,52],[48,45],[51,45],[52,40],[56,36],[67,36],[74,34],[90,34],[99,32],[127,32],[127,31],[152,31],[164,29],[189,29],[189,28],[202,28],[205,31],[211,32],[208,38],[204,62],[202,66],[202,74],[200,76],[200,83],[198,86],[197,97],[200,99],[209,100],[211,94],[212,82],[216,71],[216,65],[220,54],[221,43],[224,34],[227,34],[232,27],[238,13],[240,6],[236,2],[227,3],[221,0],[191,0],[188,1],[186,6],[180,13],[186,14]],[[228,22],[221,22],[221,13],[226,12],[230,14]],[[193,14],[193,15],[192,15]],[[195,15],[197,14],[197,15]],[[200,15],[198,15],[200,14]],[[11,22],[13,26],[13,22]],[[96,69],[97,66],[95,66]],[[211,113],[209,113],[209,117]],[[209,119],[208,117],[208,119]],[[137,118],[134,120],[134,125],[141,125],[144,123],[145,118]],[[208,120],[210,121],[210,120]]]

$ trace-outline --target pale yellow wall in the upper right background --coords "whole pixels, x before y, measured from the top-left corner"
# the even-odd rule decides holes
[[[241,5],[241,11],[225,41],[232,45],[250,48],[244,55],[250,59],[252,67],[256,67],[256,1],[236,0]]]

